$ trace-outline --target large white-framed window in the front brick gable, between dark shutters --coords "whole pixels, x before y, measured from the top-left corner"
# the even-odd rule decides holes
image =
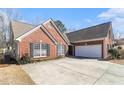
[[[47,57],[49,55],[49,45],[43,43],[33,43],[33,57]]]

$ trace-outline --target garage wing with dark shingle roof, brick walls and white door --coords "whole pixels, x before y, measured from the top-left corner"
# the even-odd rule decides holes
[[[69,55],[91,58],[107,58],[113,44],[111,22],[88,27],[66,34],[70,40]]]

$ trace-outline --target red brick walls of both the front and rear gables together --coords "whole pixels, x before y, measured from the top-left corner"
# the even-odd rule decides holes
[[[63,40],[63,38],[60,36],[60,34],[56,31],[56,29],[51,25],[49,27],[49,24],[51,25],[50,22],[47,22],[44,26],[47,29],[47,31],[56,39],[57,42],[60,44],[63,44],[66,46],[66,52],[68,52],[68,45],[66,42]],[[36,42],[44,42],[50,45],[50,56],[49,58],[55,58],[57,57],[57,48],[56,45],[51,41],[51,39],[39,28],[33,33],[27,35],[24,37],[21,42],[19,42],[19,52],[20,52],[20,57],[22,55],[28,53],[30,54],[30,43],[36,43]]]

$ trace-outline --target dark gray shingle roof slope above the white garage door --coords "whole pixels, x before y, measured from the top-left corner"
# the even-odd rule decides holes
[[[66,33],[66,35],[70,42],[104,38],[107,36],[110,26],[111,22],[107,22],[96,26],[91,26],[85,29],[81,29],[78,31]]]

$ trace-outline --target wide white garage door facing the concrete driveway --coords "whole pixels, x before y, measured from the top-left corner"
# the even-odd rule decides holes
[[[75,46],[75,56],[101,58],[102,45]]]

